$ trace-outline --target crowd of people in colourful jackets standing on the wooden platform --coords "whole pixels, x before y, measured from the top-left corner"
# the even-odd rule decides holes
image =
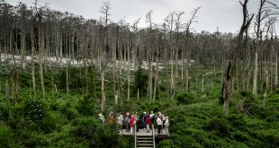
[[[146,130],[146,132],[150,131],[151,125],[154,125],[155,122],[157,123],[157,134],[162,134],[163,129],[168,132],[168,127],[170,126],[168,117],[165,117],[161,112],[158,112],[157,115],[154,114],[153,111],[151,111],[150,114],[143,112],[143,115],[140,118],[138,112],[131,115],[127,112],[124,116],[121,113],[117,113],[116,116],[114,116],[111,111],[107,120],[105,120],[102,113],[99,114],[99,122],[101,124],[106,122],[110,126],[115,123],[117,126],[124,125],[126,127],[126,132],[130,132],[130,134],[134,134],[136,131],[139,131],[140,120],[142,121],[142,128]]]

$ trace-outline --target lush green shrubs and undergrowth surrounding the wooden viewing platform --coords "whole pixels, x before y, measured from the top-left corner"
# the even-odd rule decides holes
[[[204,69],[202,71],[202,68]],[[202,67],[200,76],[209,69]],[[31,74],[19,71],[20,98],[15,100],[14,82],[9,77],[12,68],[1,67],[0,79],[0,144],[2,147],[133,147],[133,137],[118,135],[116,126],[101,125],[100,80],[93,68],[68,68],[69,89],[65,90],[66,69],[45,72],[46,100],[42,100],[40,86],[36,98],[31,91]],[[109,72],[107,72],[109,73]],[[147,72],[135,72],[132,93],[144,82]],[[193,74],[194,75],[194,74]],[[37,75],[39,77],[39,75]],[[52,81],[57,91],[52,89]],[[164,80],[164,75],[160,79]],[[222,115],[220,103],[220,75],[204,76],[204,91],[191,82],[191,92],[177,84],[175,100],[169,100],[168,87],[161,83],[157,100],[148,103],[146,94],[131,95],[130,102],[115,105],[112,83],[106,83],[107,105],[103,112],[161,111],[170,117],[170,138],[159,141],[157,147],[276,147],[279,145],[279,93],[267,95],[266,108],[263,96],[250,91],[235,91],[230,102],[229,116]],[[9,87],[4,87],[8,80]],[[86,81],[90,81],[90,84]],[[39,82],[39,80],[37,80]],[[212,85],[213,84],[213,85]],[[127,87],[127,86],[125,86]],[[145,87],[139,88],[145,90]],[[6,95],[8,89],[8,95]],[[88,93],[86,90],[89,90]],[[125,88],[123,89],[125,90]],[[124,91],[126,93],[126,91]],[[145,93],[145,92],[144,92]],[[6,97],[8,96],[8,98]],[[8,103],[9,102],[9,103]],[[11,114],[10,114],[11,113]]]

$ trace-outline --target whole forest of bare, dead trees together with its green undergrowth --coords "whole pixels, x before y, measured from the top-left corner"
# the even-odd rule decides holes
[[[279,145],[277,0],[241,1],[235,33],[195,31],[202,7],[156,24],[37,2],[0,1],[0,147],[130,147],[98,114],[151,110],[170,118],[157,147]]]

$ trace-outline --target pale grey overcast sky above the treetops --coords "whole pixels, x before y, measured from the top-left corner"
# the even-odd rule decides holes
[[[250,13],[257,11],[259,0],[250,0],[248,9]],[[34,0],[6,0],[9,4],[23,2],[33,5]],[[40,4],[49,2],[49,7],[62,12],[82,15],[86,19],[98,19],[103,0],[40,0]],[[162,23],[168,13],[173,11],[184,11],[184,22],[187,22],[194,8],[202,6],[197,14],[196,23],[193,23],[193,30],[216,31],[217,26],[222,32],[236,32],[242,22],[242,10],[239,0],[109,0],[112,9],[113,22],[121,19],[132,23],[139,17],[140,26],[146,26],[145,15],[153,10],[152,19],[154,22]]]

